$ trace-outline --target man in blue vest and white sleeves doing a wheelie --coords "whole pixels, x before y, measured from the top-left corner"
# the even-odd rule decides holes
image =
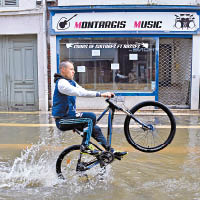
[[[98,153],[97,150],[94,150],[91,145],[89,145],[91,136],[107,149],[106,138],[102,134],[100,127],[96,125],[96,115],[92,112],[76,112],[76,96],[111,98],[111,96],[114,96],[114,93],[100,93],[82,88],[73,80],[75,71],[74,65],[70,61],[61,62],[59,70],[60,74],[54,75],[54,82],[56,85],[52,108],[52,115],[55,118],[57,128],[62,131],[69,130],[69,126],[66,126],[63,120],[72,120],[70,129],[78,129],[84,132],[81,144],[82,153]],[[79,123],[77,123],[77,120]],[[127,152],[118,152],[114,151],[114,149],[111,149],[111,151],[113,151],[114,155],[120,157],[127,154]]]

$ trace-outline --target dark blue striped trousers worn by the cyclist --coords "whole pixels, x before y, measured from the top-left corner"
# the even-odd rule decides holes
[[[86,130],[85,132],[85,137],[83,139],[83,144],[88,144],[90,140],[90,136],[92,136],[97,142],[99,142],[104,148],[107,147],[107,141],[106,138],[104,137],[101,128],[96,125],[96,115],[92,112],[82,112],[80,113],[79,117],[66,117],[66,118],[61,118],[61,119],[56,119],[56,126],[58,129],[61,131],[66,131],[66,130],[72,130],[72,129],[78,129],[80,131],[85,130],[85,127],[88,126],[88,123],[79,123],[79,124],[61,124],[62,119],[81,119],[81,118],[88,118],[92,120],[92,134],[90,131]]]

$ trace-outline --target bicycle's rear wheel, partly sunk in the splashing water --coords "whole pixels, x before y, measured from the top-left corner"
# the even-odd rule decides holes
[[[64,149],[59,155],[56,162],[56,172],[58,177],[61,179],[73,180],[76,175],[84,175],[87,176],[91,173],[96,173],[98,170],[90,170],[91,172],[84,172],[86,170],[82,169],[77,171],[77,163],[80,157],[80,145],[73,145],[69,148]],[[96,162],[97,159],[93,155],[90,154],[82,154],[81,163],[92,163]],[[84,166],[83,166],[84,167]],[[100,165],[98,164],[95,168],[100,169]],[[93,174],[94,175],[94,174]]]

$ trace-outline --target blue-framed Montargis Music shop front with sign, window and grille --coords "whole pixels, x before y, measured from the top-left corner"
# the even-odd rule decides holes
[[[81,86],[113,91],[126,105],[151,99],[191,107],[193,36],[199,29],[194,7],[49,10],[52,79],[59,63],[70,60],[75,65],[75,81]],[[82,102],[80,108],[103,106],[94,99]]]

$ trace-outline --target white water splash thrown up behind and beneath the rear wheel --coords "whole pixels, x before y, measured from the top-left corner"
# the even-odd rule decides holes
[[[106,189],[108,182],[112,181],[111,167],[109,166],[101,177],[93,176],[96,171],[91,170],[92,178],[73,176],[72,180],[60,180],[57,177],[55,163],[60,151],[46,148],[58,146],[62,135],[44,136],[31,147],[23,150],[21,155],[12,163],[0,163],[0,189],[21,191],[31,188],[67,188],[70,194],[77,194],[81,191],[94,190],[98,187]],[[92,174],[93,173],[93,174]],[[65,191],[66,192],[66,191]]]

